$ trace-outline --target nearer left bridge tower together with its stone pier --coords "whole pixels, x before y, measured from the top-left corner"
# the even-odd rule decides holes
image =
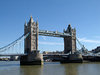
[[[27,35],[24,39],[24,52],[27,54],[21,56],[21,65],[41,65],[43,56],[38,51],[38,21],[34,22],[32,16],[28,23],[24,24],[24,34]]]

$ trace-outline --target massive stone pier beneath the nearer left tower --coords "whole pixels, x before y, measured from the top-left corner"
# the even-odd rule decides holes
[[[20,65],[42,65],[43,55],[39,51],[34,51],[28,55],[21,56]]]

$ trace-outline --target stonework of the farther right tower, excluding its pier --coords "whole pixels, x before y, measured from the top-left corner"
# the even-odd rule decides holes
[[[72,29],[71,25],[68,25],[67,30],[64,33],[69,33],[71,36],[64,37],[64,53],[74,54],[76,51],[76,29]]]

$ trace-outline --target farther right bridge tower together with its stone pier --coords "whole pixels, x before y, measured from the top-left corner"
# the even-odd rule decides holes
[[[64,30],[64,33],[69,33],[71,36],[64,37],[64,53],[70,53],[67,60],[61,62],[70,62],[70,63],[79,63],[83,62],[82,55],[76,51],[76,29],[72,29],[71,25],[68,25],[67,30]]]

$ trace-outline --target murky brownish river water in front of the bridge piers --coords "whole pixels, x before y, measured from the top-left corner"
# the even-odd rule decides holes
[[[100,75],[100,63],[45,62],[20,66],[19,61],[0,61],[0,75]]]

